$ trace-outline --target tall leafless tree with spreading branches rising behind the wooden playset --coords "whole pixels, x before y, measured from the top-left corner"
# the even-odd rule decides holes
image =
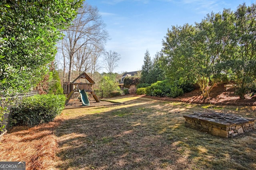
[[[92,66],[90,63],[92,51],[102,47],[108,38],[108,33],[98,9],[84,3],[64,34],[66,36],[62,41],[62,55],[64,70],[68,67],[67,80],[70,82],[73,66],[78,72],[86,71]],[[69,59],[69,63],[65,57]]]

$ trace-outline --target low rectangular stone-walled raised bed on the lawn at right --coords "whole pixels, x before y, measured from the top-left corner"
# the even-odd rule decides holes
[[[184,115],[185,126],[219,137],[234,137],[255,129],[256,119],[240,117],[239,115],[205,111]]]

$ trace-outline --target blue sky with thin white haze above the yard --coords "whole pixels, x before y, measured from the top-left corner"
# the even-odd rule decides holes
[[[172,25],[200,22],[207,14],[235,11],[255,0],[86,0],[102,15],[110,40],[106,51],[120,54],[114,72],[141,70],[146,50],[151,59],[162,49],[162,40]],[[102,70],[105,71],[106,70]]]

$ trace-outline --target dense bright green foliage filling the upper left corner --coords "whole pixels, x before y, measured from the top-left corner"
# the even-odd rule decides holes
[[[35,86],[54,60],[61,29],[76,16],[82,0],[3,0],[0,4],[0,93]],[[4,58],[3,58],[4,57]]]

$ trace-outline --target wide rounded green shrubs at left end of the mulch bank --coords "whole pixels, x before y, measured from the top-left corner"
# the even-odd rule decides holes
[[[168,96],[168,97],[178,97],[182,96],[183,90],[176,83],[170,80],[158,81],[151,84],[151,86],[146,87],[147,96]]]

